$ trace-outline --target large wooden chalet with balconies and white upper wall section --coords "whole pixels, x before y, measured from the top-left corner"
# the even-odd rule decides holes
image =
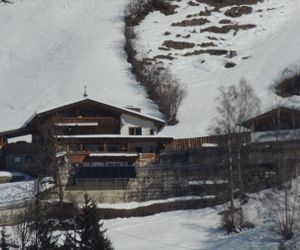
[[[34,172],[32,168],[42,161],[43,148],[49,141],[43,129],[50,127],[52,141],[68,155],[74,183],[134,178],[136,165],[155,160],[172,141],[157,135],[164,125],[163,120],[144,115],[140,109],[86,98],[37,112],[21,128],[0,132],[0,166]],[[8,143],[25,135],[31,135],[32,141]]]

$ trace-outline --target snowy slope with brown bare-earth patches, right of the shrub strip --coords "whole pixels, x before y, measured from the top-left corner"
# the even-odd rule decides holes
[[[274,80],[283,72],[287,73],[287,67],[297,70],[295,65],[300,65],[300,1],[264,0],[263,3],[250,5],[253,8],[251,14],[237,18],[224,15],[230,7],[224,7],[220,12],[212,12],[210,16],[199,16],[200,11],[205,8],[212,10],[214,7],[206,4],[190,6],[188,2],[174,2],[179,6],[174,15],[165,16],[158,11],[153,12],[136,28],[140,56],[150,59],[157,55],[174,57],[173,60],[159,61],[169,67],[173,75],[187,88],[187,96],[178,114],[180,123],[164,131],[177,137],[207,134],[210,121],[215,116],[215,98],[220,86],[237,84],[241,78],[245,78],[262,99],[262,109],[268,109],[278,101],[270,91]],[[192,2],[197,4],[196,1]],[[194,16],[187,17],[188,15]],[[209,23],[201,26],[171,26],[172,23],[193,18],[207,18]],[[256,27],[239,30],[237,34],[234,31],[227,34],[200,32],[209,26],[225,25],[219,23],[222,19],[230,20],[231,24],[254,24]],[[166,35],[165,32],[170,34]],[[159,47],[165,40],[194,43],[195,47],[160,50]],[[199,46],[209,42],[213,42],[216,47]],[[230,59],[224,55],[183,56],[187,52],[200,49],[235,50],[237,56]],[[234,62],[236,66],[225,68],[226,62]],[[292,100],[291,103],[299,106],[298,100]]]

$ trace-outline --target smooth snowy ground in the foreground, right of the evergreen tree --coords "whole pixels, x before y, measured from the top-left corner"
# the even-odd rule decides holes
[[[278,249],[265,228],[226,235],[214,208],[160,213],[104,222],[116,250],[250,250]]]

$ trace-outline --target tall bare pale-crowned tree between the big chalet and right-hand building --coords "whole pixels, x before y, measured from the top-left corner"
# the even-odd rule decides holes
[[[230,85],[219,89],[217,97],[217,116],[213,119],[209,128],[210,133],[226,135],[223,142],[228,147],[228,175],[229,175],[229,209],[223,215],[225,223],[228,223],[228,231],[239,231],[238,227],[243,224],[242,199],[244,196],[244,185],[242,178],[241,159],[241,128],[240,123],[256,115],[260,110],[260,100],[255,95],[253,88],[242,79],[238,86]],[[235,163],[234,160],[237,162]],[[238,186],[240,189],[240,208],[234,206],[234,180],[233,166],[238,166]],[[237,219],[236,213],[239,212]],[[231,229],[230,229],[231,228]]]

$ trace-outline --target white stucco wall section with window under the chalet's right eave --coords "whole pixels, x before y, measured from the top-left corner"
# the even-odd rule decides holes
[[[156,134],[156,127],[153,121],[141,119],[128,114],[121,115],[121,135],[129,135],[130,127],[141,127],[142,135],[150,135],[150,130],[154,130]]]

